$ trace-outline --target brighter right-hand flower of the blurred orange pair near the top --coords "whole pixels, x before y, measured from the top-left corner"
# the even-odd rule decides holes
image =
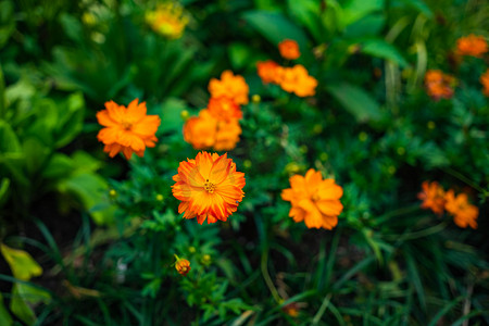
[[[293,67],[276,68],[275,83],[288,92],[294,92],[298,97],[311,97],[316,92],[317,80],[309,75],[308,70],[296,64]]]

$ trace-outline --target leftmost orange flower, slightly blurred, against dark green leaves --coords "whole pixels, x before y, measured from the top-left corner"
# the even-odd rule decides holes
[[[142,156],[147,147],[154,147],[154,141],[158,141],[154,134],[161,121],[158,115],[146,114],[146,102],[138,104],[136,99],[126,109],[109,101],[105,102],[105,109],[97,112],[99,124],[105,127],[97,138],[105,145],[103,151],[109,156],[123,152],[129,160],[133,152]]]

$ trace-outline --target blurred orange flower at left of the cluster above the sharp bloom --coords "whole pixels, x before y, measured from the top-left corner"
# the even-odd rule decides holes
[[[211,148],[215,143],[217,120],[209,112],[201,110],[199,116],[192,116],[184,125],[184,140],[195,149]]]

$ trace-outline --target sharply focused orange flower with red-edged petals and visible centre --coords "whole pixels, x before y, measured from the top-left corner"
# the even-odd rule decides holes
[[[244,174],[236,171],[227,153],[200,152],[195,160],[180,162],[173,179],[173,196],[181,201],[178,213],[185,212],[185,218],[197,217],[199,224],[205,218],[208,224],[227,221],[244,196]]]

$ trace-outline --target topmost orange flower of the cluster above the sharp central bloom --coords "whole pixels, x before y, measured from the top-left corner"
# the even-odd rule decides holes
[[[231,71],[224,71],[221,74],[221,80],[212,78],[209,82],[209,92],[212,98],[230,97],[236,104],[248,104],[250,88],[242,76],[235,76]]]

